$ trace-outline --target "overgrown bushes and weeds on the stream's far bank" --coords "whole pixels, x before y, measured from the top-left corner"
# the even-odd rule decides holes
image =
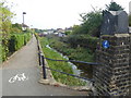
[[[79,39],[80,38],[80,39]],[[72,40],[73,39],[73,40]],[[59,37],[48,37],[50,47],[68,56],[71,60],[94,62],[95,49],[98,38],[91,36],[75,36],[73,38],[61,39]]]

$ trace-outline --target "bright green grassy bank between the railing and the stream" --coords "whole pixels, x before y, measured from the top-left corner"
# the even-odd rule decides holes
[[[57,60],[66,60],[58,52],[46,47],[47,45],[49,45],[49,41],[47,40],[47,38],[41,37],[39,39],[40,39],[40,45],[41,45],[41,48],[43,48],[43,51],[44,51],[46,58],[51,58],[51,59],[57,59]],[[50,60],[47,60],[47,62],[51,69],[60,70],[62,72],[73,74],[72,68],[68,62],[58,62],[58,61],[50,61]],[[74,78],[74,77],[66,75],[66,74],[61,74],[61,73],[52,71],[52,75],[57,82],[60,82],[66,85],[70,85],[70,86],[85,85],[85,82],[82,82],[79,78]]]

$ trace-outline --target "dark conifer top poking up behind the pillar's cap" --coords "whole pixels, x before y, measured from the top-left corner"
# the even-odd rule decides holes
[[[121,11],[123,8],[120,4],[117,4],[116,2],[110,2],[109,5],[106,4],[106,9],[108,11]]]

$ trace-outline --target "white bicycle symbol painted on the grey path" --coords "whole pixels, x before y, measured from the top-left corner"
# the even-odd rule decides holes
[[[16,74],[9,79],[9,83],[14,83],[15,81],[27,81],[28,77],[25,76],[25,73]]]

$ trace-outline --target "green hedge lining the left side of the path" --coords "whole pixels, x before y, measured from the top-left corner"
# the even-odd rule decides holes
[[[5,61],[8,57],[10,57],[14,51],[19,50],[21,47],[27,44],[27,41],[31,39],[31,33],[23,33],[23,34],[11,34],[10,38],[2,39],[2,46],[0,46],[0,49],[2,50],[2,53],[0,52],[0,57],[2,57],[2,61]],[[4,44],[7,41],[7,45]]]

